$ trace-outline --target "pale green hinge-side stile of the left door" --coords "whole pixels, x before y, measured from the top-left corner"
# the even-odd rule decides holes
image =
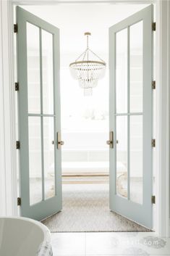
[[[17,80],[20,82],[20,85],[25,84],[27,81],[27,74],[25,70],[27,70],[27,47],[26,47],[26,23],[22,17],[20,12],[17,12],[17,26],[18,26],[18,33],[17,33]],[[22,30],[22,33],[20,33]],[[22,42],[24,41],[24,44]],[[27,83],[26,83],[27,85]],[[22,129],[20,125],[18,127],[18,135],[21,147],[23,144],[28,144],[28,137],[25,136],[25,133],[28,134],[28,120],[27,115],[23,115],[23,112],[27,111],[27,90],[20,86],[20,91],[18,94],[17,104],[18,104],[18,121],[19,123],[22,121]],[[25,160],[25,175],[21,174],[21,171],[24,168],[22,161],[19,161],[19,168],[20,168],[20,196],[22,199],[22,209],[21,214],[28,211],[28,204],[30,204],[30,187],[29,183],[27,182],[29,179],[29,161],[27,158],[28,149],[27,147],[25,150],[20,150],[19,157],[20,160]],[[24,212],[24,213],[25,213]]]

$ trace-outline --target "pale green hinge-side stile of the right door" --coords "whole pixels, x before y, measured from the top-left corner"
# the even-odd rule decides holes
[[[147,73],[143,75],[143,91],[146,95],[145,104],[143,102],[143,120],[145,119],[145,123],[148,123],[148,129],[143,127],[143,145],[145,145],[145,148],[147,149],[147,151],[144,152],[145,162],[143,163],[143,172],[145,173],[143,176],[143,183],[146,184],[147,189],[143,189],[143,198],[145,198],[146,207],[150,207],[150,197],[153,195],[153,147],[150,143],[150,138],[153,139],[153,89],[151,86],[153,80],[153,9],[150,11],[150,17],[145,17],[143,24],[145,25],[144,36],[146,33],[149,35],[145,36],[145,41],[143,41],[143,67],[147,70]],[[147,24],[150,24],[150,26]],[[148,62],[147,56],[150,57],[151,62]],[[149,177],[146,178],[148,166],[150,167],[150,173]],[[150,183],[150,181],[152,182]],[[153,215],[153,207],[151,207],[150,212],[150,215]]]

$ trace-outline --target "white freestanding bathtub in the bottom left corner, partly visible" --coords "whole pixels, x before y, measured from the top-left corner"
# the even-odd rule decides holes
[[[51,234],[42,223],[29,218],[0,218],[1,256],[51,256]]]

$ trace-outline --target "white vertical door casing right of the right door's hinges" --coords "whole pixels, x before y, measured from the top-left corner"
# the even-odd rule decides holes
[[[170,1],[157,1],[156,27],[156,229],[169,229]]]

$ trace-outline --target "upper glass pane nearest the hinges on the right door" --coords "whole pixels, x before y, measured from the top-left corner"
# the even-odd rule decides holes
[[[130,112],[143,112],[143,21],[129,28]]]

